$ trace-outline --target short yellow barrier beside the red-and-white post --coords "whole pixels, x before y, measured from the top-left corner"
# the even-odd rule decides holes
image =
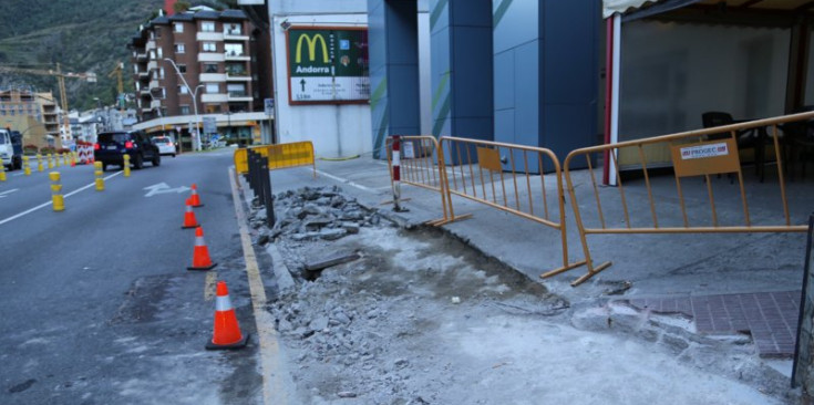
[[[393,202],[396,209],[399,209],[398,199],[401,198],[399,183],[409,184],[435,191],[441,197],[444,217],[431,220],[429,224],[443,225],[450,222],[451,217],[454,217],[454,212],[451,211],[452,207],[447,202],[444,190],[444,160],[437,158],[440,156],[437,139],[430,135],[400,135],[396,139],[398,147],[394,147],[394,136],[390,136],[385,141],[390,186],[393,188]],[[399,153],[395,159],[394,152]],[[409,198],[402,200],[409,200]]]

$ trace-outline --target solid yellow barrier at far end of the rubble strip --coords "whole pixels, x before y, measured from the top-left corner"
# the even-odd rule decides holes
[[[313,167],[313,177],[317,177],[313,143],[310,141],[238,148],[235,150],[234,155],[235,169],[237,173],[246,174],[249,170],[247,149],[257,152],[266,157],[269,170],[297,166],[311,166]]]

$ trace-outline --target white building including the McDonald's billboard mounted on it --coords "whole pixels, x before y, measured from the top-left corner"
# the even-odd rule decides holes
[[[311,141],[320,157],[371,153],[367,1],[269,0],[268,13],[275,142]],[[362,37],[363,44],[347,40]],[[364,60],[353,58],[354,45],[364,46]],[[296,62],[308,64],[300,69],[301,74],[291,72]],[[363,77],[358,74],[342,76],[343,69],[354,68],[354,72],[364,71]]]

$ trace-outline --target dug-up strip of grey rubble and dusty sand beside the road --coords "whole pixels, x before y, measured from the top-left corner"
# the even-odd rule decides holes
[[[687,320],[642,321],[607,301],[573,308],[442,230],[401,229],[339,188],[281,194],[276,207],[276,228],[257,210],[253,222],[295,278],[268,305],[295,403],[794,399],[748,342],[693,338]],[[306,270],[337,257],[350,261]]]

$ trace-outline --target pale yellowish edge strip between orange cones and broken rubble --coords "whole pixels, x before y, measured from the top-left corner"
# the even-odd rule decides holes
[[[290,375],[288,375],[282,363],[279,361],[282,356],[282,347],[277,339],[274,319],[265,308],[268,299],[266,298],[266,289],[260,278],[259,267],[257,266],[257,256],[255,255],[255,249],[251,247],[251,238],[249,237],[248,226],[246,225],[246,212],[238,197],[235,172],[233,167],[229,167],[227,172],[231,187],[231,200],[235,205],[235,214],[237,216],[237,226],[240,232],[240,245],[243,246],[244,259],[246,261],[246,276],[249,280],[251,307],[254,309],[253,312],[255,314],[255,324],[260,346],[262,401],[266,405],[286,405],[288,404],[286,382],[290,382]],[[288,386],[293,387],[290,383]]]

